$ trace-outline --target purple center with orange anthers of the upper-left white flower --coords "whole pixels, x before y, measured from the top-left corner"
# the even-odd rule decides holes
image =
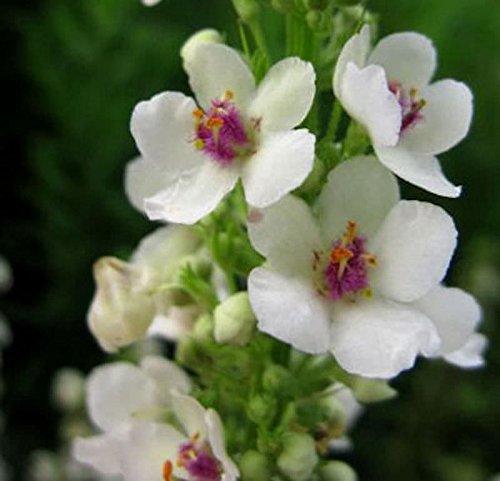
[[[254,130],[258,130],[259,123],[253,122],[253,129],[245,124],[233,102],[232,92],[227,91],[221,99],[212,100],[207,112],[196,109],[193,117],[194,145],[215,162],[229,165],[236,158],[254,152]]]

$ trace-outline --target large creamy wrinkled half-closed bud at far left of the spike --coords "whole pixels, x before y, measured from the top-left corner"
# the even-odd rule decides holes
[[[97,289],[87,319],[101,347],[114,352],[142,338],[155,313],[142,270],[114,257],[102,257],[94,264],[94,278]]]

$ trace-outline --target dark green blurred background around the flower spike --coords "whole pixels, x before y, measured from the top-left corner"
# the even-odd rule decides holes
[[[372,406],[346,459],[361,481],[481,481],[500,472],[500,4],[498,0],[372,0],[382,34],[416,30],[439,51],[436,78],[475,93],[470,136],[442,155],[458,200],[405,186],[454,216],[461,233],[449,283],[477,295],[490,338],[488,367],[466,372],[421,361],[394,382],[400,397]],[[49,382],[60,366],[105,359],[87,332],[91,265],[126,256],[152,228],[128,206],[123,167],[135,155],[134,104],[184,90],[178,50],[195,29],[235,38],[229,0],[4,0],[0,253],[15,284],[1,299],[14,344],[3,376],[2,451],[20,476],[35,448],[54,448]]]

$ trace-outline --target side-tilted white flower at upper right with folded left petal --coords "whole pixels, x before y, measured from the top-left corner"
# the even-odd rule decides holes
[[[399,177],[446,197],[460,195],[435,155],[462,140],[472,118],[472,94],[455,80],[429,85],[436,52],[423,35],[383,38],[371,50],[365,25],[344,46],[333,89],[371,137],[379,160]]]

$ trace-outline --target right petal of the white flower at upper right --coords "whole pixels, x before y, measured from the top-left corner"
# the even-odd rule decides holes
[[[455,80],[441,80],[421,92],[422,120],[401,137],[399,145],[424,154],[439,154],[458,144],[472,121],[472,92]]]

